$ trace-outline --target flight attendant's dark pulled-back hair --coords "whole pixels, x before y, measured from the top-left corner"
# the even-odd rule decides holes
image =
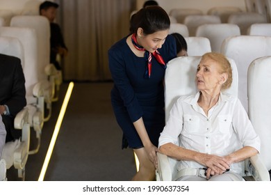
[[[170,29],[170,17],[160,6],[142,8],[130,20],[131,33],[136,33],[138,28],[142,28],[145,35]]]

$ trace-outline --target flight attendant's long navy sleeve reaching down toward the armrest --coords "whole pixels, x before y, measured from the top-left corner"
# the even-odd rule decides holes
[[[114,84],[120,93],[131,121],[135,122],[142,116],[142,109],[126,74],[126,63],[123,52],[116,47],[109,49],[108,61]]]

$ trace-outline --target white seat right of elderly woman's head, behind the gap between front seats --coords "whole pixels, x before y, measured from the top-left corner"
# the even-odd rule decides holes
[[[271,55],[271,37],[233,36],[226,38],[222,42],[221,52],[236,62],[239,77],[238,98],[247,111],[247,70],[254,59]]]

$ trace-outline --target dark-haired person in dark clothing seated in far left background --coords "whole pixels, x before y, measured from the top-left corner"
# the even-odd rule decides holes
[[[60,54],[61,57],[67,56],[67,47],[65,45],[60,26],[54,23],[57,9],[58,3],[44,1],[40,4],[40,15],[47,17],[50,22],[50,63],[54,63],[56,69],[61,70],[61,66],[57,61],[57,55]]]

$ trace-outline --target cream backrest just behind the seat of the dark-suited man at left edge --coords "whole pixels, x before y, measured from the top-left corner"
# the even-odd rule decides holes
[[[33,88],[38,83],[38,43],[34,29],[18,27],[0,27],[0,36],[17,38],[24,49],[24,77],[26,79],[26,102],[36,104],[37,100],[33,97]],[[22,60],[22,59],[21,59]]]

